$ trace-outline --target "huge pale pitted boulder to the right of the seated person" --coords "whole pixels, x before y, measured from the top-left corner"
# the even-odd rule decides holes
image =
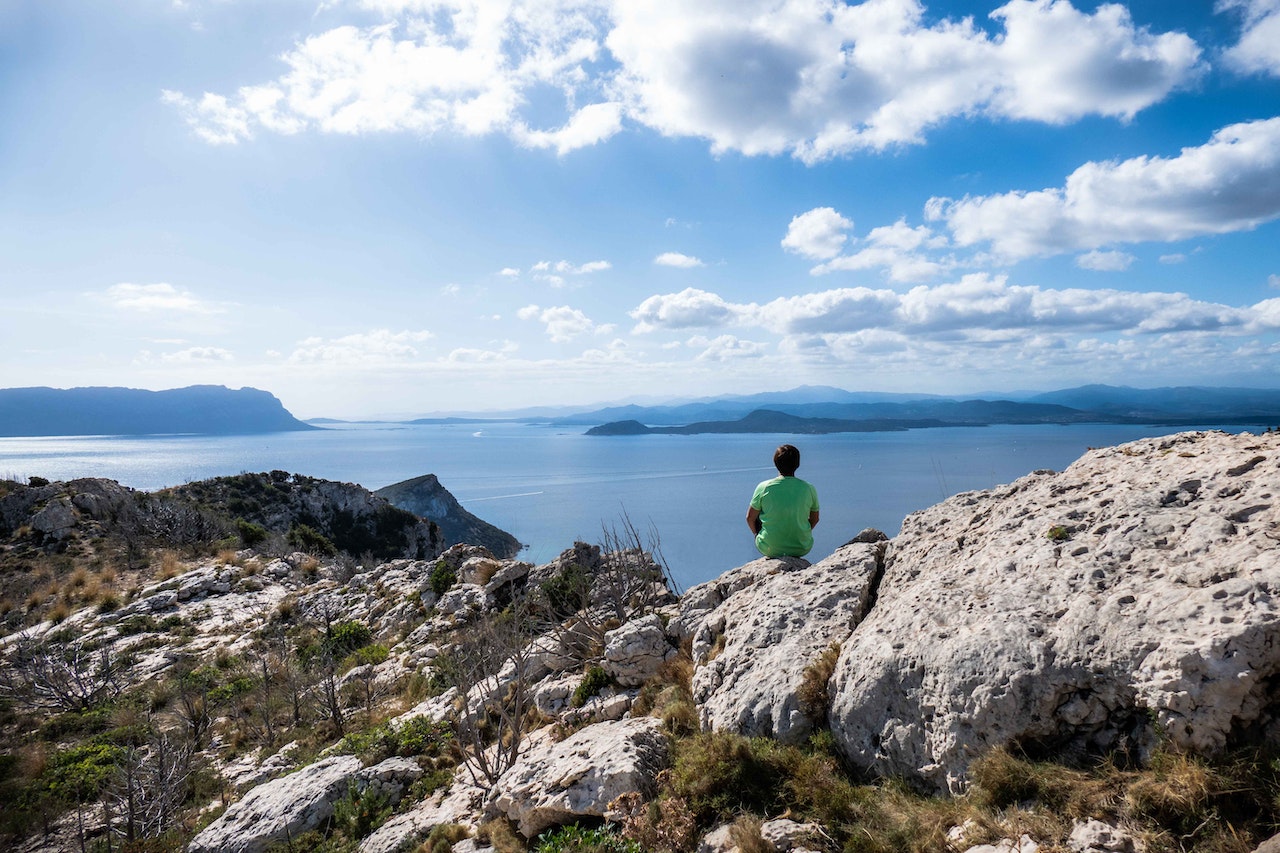
[[[909,516],[844,647],[859,768],[963,790],[988,749],[1212,754],[1274,720],[1280,435],[1187,433]]]

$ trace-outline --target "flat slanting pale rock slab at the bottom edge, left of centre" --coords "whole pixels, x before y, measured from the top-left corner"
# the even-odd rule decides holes
[[[333,815],[360,771],[355,756],[325,758],[259,785],[206,826],[188,853],[261,853],[276,841],[316,829]]]

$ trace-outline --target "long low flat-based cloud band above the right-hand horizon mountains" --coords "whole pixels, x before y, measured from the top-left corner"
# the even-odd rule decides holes
[[[640,320],[637,330],[754,325],[791,336],[790,346],[812,336],[861,333],[972,342],[1037,333],[1251,334],[1274,329],[1280,321],[1268,302],[1233,307],[1185,293],[1042,288],[982,273],[946,284],[916,286],[905,293],[837,288],[765,305],[735,305],[714,293],[686,289],[652,296],[631,315]]]

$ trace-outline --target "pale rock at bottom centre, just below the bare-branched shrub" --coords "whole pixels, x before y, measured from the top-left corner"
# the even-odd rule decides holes
[[[653,793],[668,761],[662,722],[652,717],[600,722],[559,742],[529,748],[489,794],[489,809],[526,838],[577,817],[617,818],[609,803],[628,792]]]

